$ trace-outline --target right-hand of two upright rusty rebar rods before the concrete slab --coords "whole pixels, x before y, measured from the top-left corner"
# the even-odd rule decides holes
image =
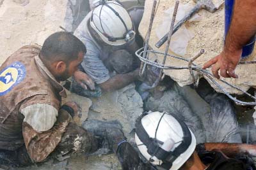
[[[169,46],[170,46],[171,39],[172,39],[172,32],[173,32],[173,27],[174,27],[174,23],[175,23],[177,11],[178,11],[179,3],[180,3],[179,1],[176,1],[176,3],[175,3],[175,8],[174,8],[173,15],[172,15],[172,23],[171,23],[170,31],[169,31],[169,34],[168,34],[168,40],[167,40],[167,44],[166,44],[166,48],[165,48],[165,52],[164,52],[164,59],[163,59],[163,62],[162,62],[163,65],[166,62],[166,57],[167,57],[167,54],[168,54],[168,51],[169,51]],[[161,69],[159,76],[161,76],[162,73],[163,73],[163,69]]]

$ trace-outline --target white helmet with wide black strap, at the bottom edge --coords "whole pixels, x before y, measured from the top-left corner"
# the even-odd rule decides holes
[[[179,169],[196,147],[193,132],[182,120],[158,111],[138,118],[135,141],[143,162],[155,169]]]

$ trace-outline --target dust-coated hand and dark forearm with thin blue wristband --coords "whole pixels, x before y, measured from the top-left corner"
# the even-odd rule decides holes
[[[117,121],[104,122],[100,120],[86,120],[84,129],[92,132],[101,141],[105,141],[109,150],[116,153],[123,170],[149,170],[150,166],[144,164],[138,152],[126,141],[122,126]]]

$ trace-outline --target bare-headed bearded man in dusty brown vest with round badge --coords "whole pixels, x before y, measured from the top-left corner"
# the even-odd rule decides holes
[[[72,123],[78,106],[69,102],[60,81],[77,71],[86,48],[69,32],[56,32],[44,45],[23,46],[0,67],[0,166],[28,166],[49,157],[92,153],[102,141],[116,152],[125,137],[115,125],[101,124],[99,140]],[[132,157],[131,152],[121,157]],[[130,155],[129,155],[130,154]],[[122,160],[126,168],[131,166]]]

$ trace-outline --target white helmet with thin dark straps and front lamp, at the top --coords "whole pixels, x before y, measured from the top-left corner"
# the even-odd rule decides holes
[[[116,1],[95,3],[90,25],[108,45],[124,45],[135,37],[131,17]]]

